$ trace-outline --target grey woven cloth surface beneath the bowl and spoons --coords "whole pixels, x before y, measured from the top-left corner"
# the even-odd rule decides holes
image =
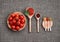
[[[33,7],[40,12],[40,32],[36,32],[36,19],[32,18],[32,33],[28,32],[28,19],[24,30],[13,32],[6,24],[9,13],[23,12]],[[0,0],[0,42],[60,42],[60,0]],[[41,26],[42,17],[52,17],[54,25],[51,32],[45,32]]]

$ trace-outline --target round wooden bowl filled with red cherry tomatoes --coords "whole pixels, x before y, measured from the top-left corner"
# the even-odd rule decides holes
[[[23,20],[24,20],[24,23],[22,22]],[[21,31],[24,29],[26,25],[26,17],[24,16],[22,12],[13,12],[7,18],[7,25],[13,31]]]

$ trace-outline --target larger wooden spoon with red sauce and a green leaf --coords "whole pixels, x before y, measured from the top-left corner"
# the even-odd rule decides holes
[[[29,32],[31,32],[31,18],[34,16],[34,9],[31,7],[27,7],[25,14],[29,18]]]

